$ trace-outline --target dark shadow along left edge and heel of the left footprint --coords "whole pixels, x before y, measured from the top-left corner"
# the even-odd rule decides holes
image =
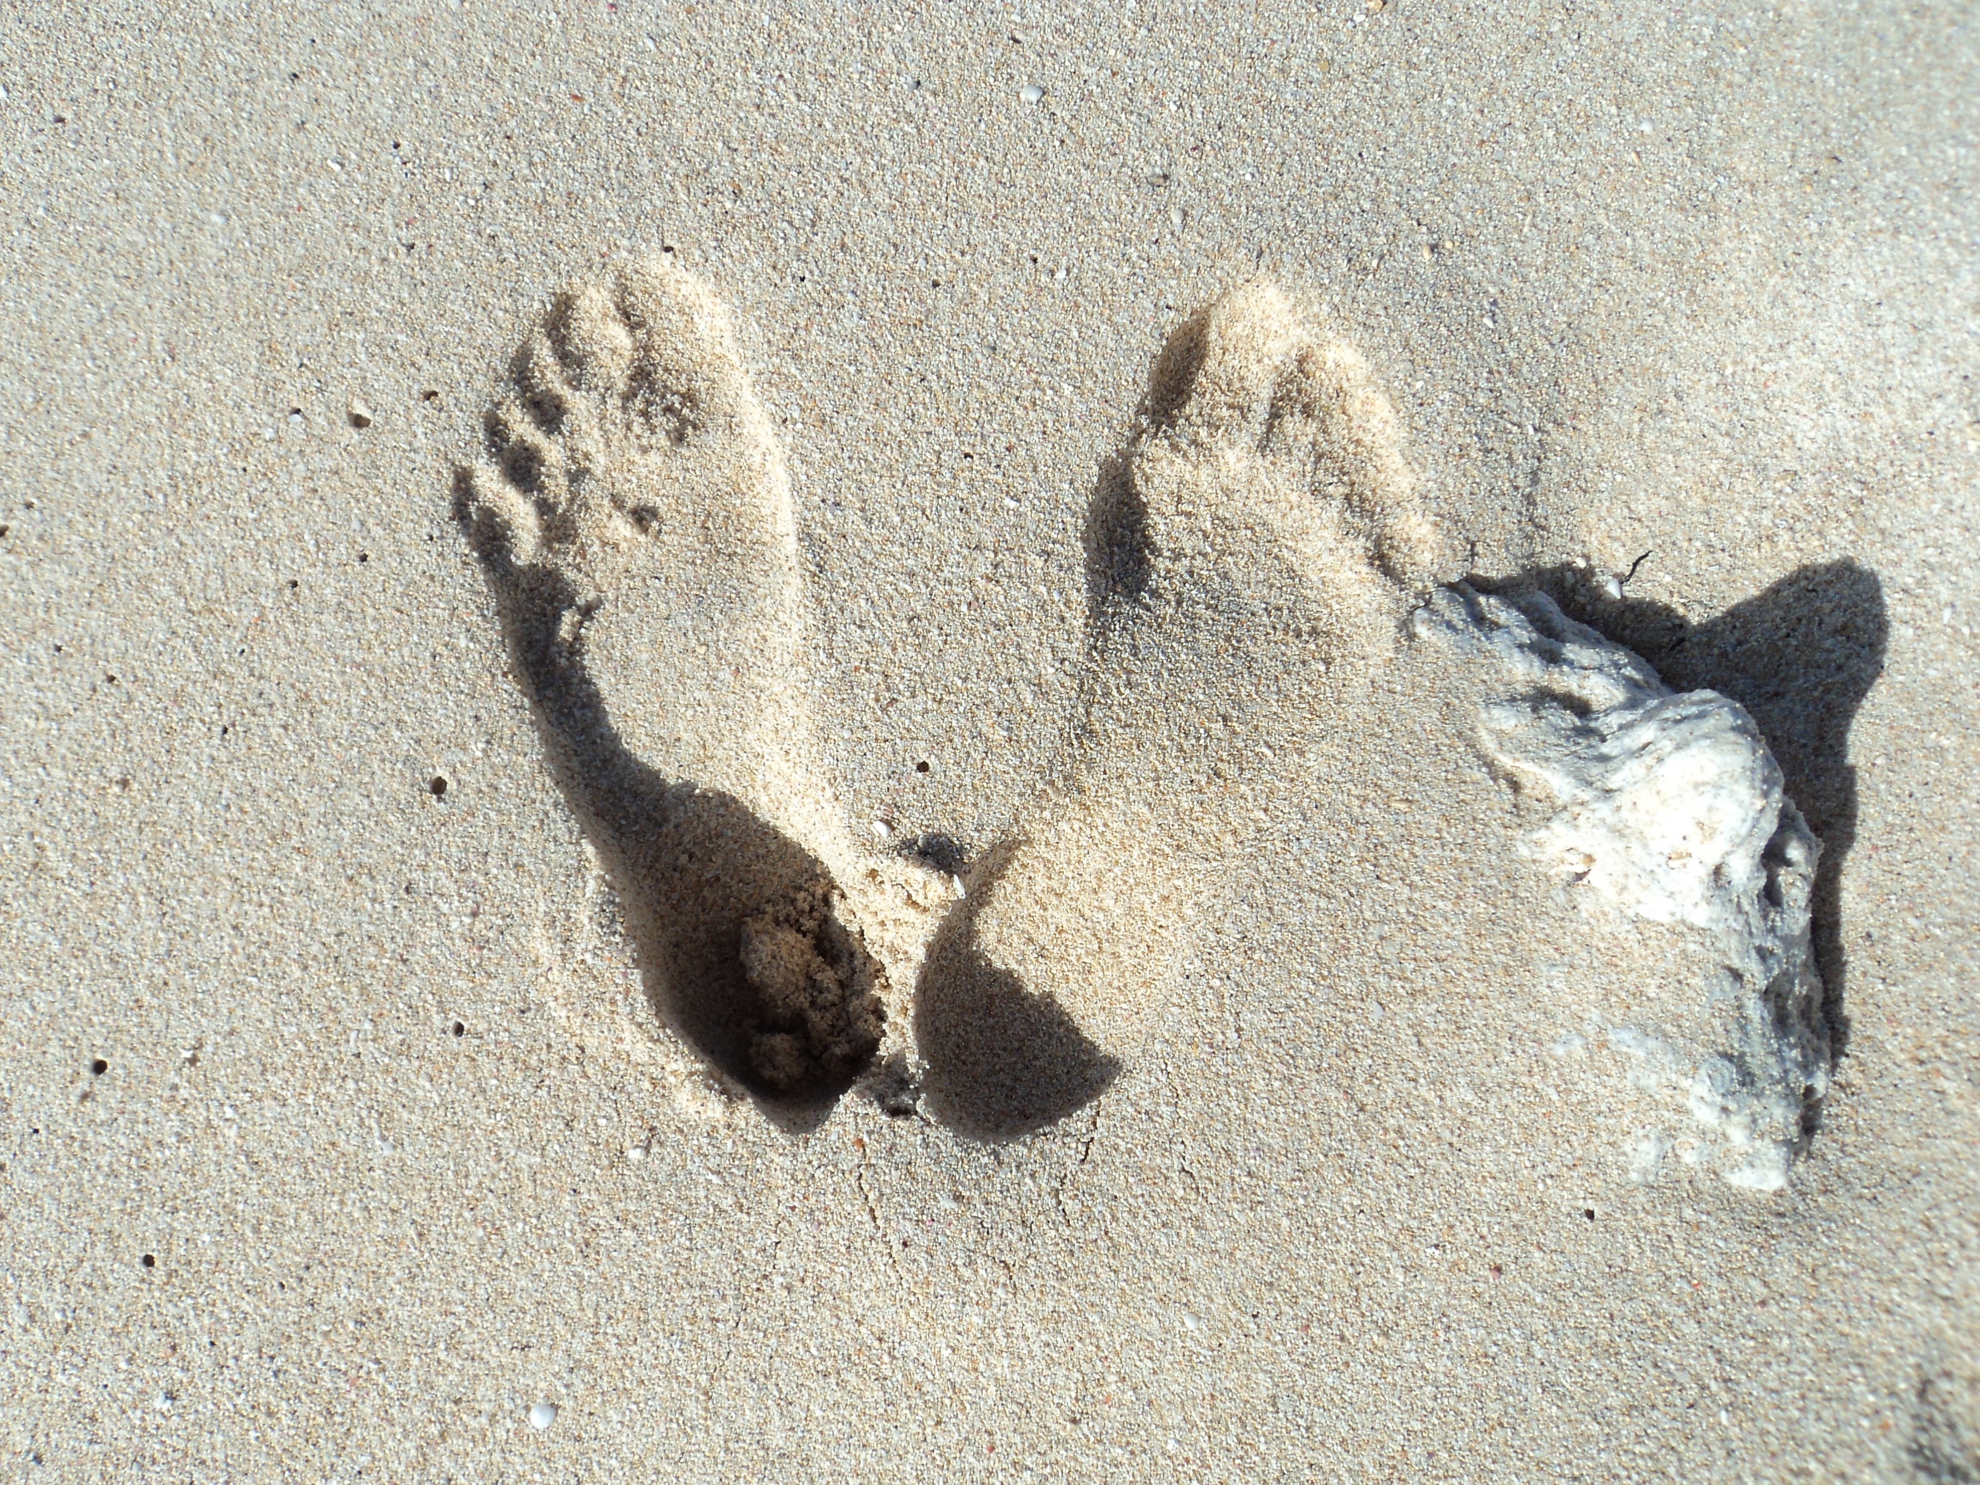
[[[576,594],[543,568],[513,562],[501,525],[475,519],[465,471],[455,475],[453,511],[487,570],[550,774],[618,887],[653,1008],[778,1127],[816,1129],[871,1063],[879,1004],[855,1006],[871,1018],[871,1036],[857,1014],[849,1028],[840,1014],[820,1032],[816,1014],[778,1000],[744,970],[744,923],[758,925],[758,940],[782,935],[828,962],[871,964],[830,913],[824,923],[814,913],[808,939],[786,931],[792,903],[820,899],[826,867],[733,796],[663,778],[636,758],[582,651],[558,636]],[[766,952],[774,958],[776,944]],[[766,1045],[782,1053],[780,1075],[764,1073]]]

